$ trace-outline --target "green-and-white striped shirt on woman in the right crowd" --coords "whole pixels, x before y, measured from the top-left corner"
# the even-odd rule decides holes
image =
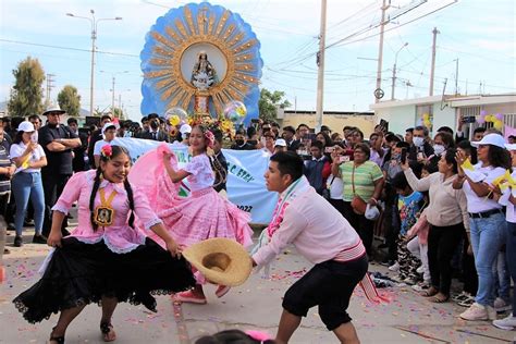
[[[344,201],[352,201],[354,195],[368,201],[374,194],[374,182],[383,177],[382,170],[372,161],[366,161],[355,168],[355,173],[353,161],[341,164],[340,169],[344,182]],[[355,194],[353,184],[355,184]]]

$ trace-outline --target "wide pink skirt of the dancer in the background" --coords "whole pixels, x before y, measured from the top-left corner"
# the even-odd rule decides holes
[[[249,214],[213,188],[193,192],[185,198],[169,197],[169,207],[157,209],[157,216],[177,244],[189,246],[211,237],[233,238],[244,247],[253,244]],[[156,234],[149,236],[164,245]]]

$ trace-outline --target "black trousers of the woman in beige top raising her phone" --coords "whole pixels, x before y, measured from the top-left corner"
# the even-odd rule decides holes
[[[463,223],[437,226],[428,232],[428,265],[432,286],[444,295],[450,295],[452,284],[452,258],[465,233]]]

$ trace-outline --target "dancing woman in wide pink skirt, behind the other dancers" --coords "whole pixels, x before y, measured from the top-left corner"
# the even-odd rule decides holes
[[[153,206],[157,214],[180,245],[189,246],[211,237],[229,237],[244,246],[250,246],[253,231],[248,225],[249,214],[213,189],[213,170],[216,173],[224,173],[218,160],[208,156],[213,143],[214,137],[209,130],[201,125],[195,126],[189,136],[193,159],[183,169],[176,168],[173,153],[163,149],[164,170],[157,176],[158,197]],[[173,185],[177,185],[175,183],[184,179],[188,181],[192,194],[186,198],[175,197],[172,195]],[[155,237],[152,234],[150,236]],[[160,243],[159,238],[156,239]],[[206,281],[199,273],[196,273],[196,278],[198,283],[195,287],[175,294],[175,300],[206,304],[201,285]],[[228,286],[219,285],[216,295],[222,297],[229,290]]]

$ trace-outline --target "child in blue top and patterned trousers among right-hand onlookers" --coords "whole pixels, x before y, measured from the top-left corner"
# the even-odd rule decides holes
[[[408,250],[406,238],[408,230],[417,222],[417,214],[421,210],[423,196],[421,193],[414,192],[410,188],[403,172],[394,176],[392,186],[397,193],[397,209],[401,219],[400,235],[397,238],[398,279],[407,284],[416,284],[418,280],[416,270],[421,262]]]

